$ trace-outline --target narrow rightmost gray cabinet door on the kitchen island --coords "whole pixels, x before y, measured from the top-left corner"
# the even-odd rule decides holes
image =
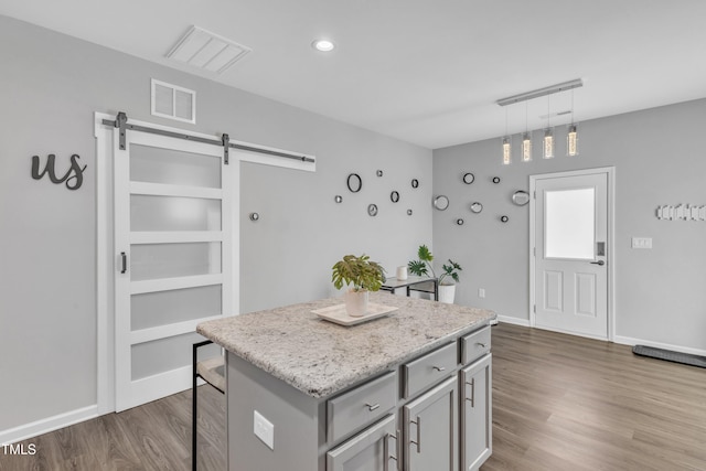
[[[461,370],[461,470],[474,471],[493,451],[492,355]]]

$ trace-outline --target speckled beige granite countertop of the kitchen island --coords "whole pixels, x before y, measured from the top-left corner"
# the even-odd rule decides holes
[[[352,327],[311,311],[343,303],[329,298],[199,324],[196,332],[312,397],[392,370],[459,335],[489,324],[492,311],[371,292],[371,302],[398,307]]]

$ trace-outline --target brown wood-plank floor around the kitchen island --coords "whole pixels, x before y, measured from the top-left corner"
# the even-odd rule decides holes
[[[200,470],[223,470],[225,400],[208,386],[200,398]],[[493,328],[493,433],[482,471],[705,471],[706,370],[501,324]],[[0,449],[0,470],[185,471],[191,392],[29,443],[33,457]]]

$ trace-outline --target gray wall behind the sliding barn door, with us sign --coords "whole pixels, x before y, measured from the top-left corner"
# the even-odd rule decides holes
[[[346,253],[394,272],[431,243],[428,149],[6,17],[0,64],[0,432],[96,404],[94,111],[317,156],[315,173],[243,164],[243,312],[333,295],[330,267]],[[196,90],[196,126],[149,115],[152,77]],[[49,153],[62,171],[81,156],[79,190],[31,179],[31,157]],[[364,182],[355,195],[350,172]],[[413,178],[422,183],[414,192]],[[253,211],[258,223],[247,220]]]

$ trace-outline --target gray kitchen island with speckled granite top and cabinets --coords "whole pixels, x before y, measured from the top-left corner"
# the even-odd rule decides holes
[[[204,322],[226,351],[232,471],[473,470],[490,456],[492,311],[383,292],[352,327],[340,298]]]

